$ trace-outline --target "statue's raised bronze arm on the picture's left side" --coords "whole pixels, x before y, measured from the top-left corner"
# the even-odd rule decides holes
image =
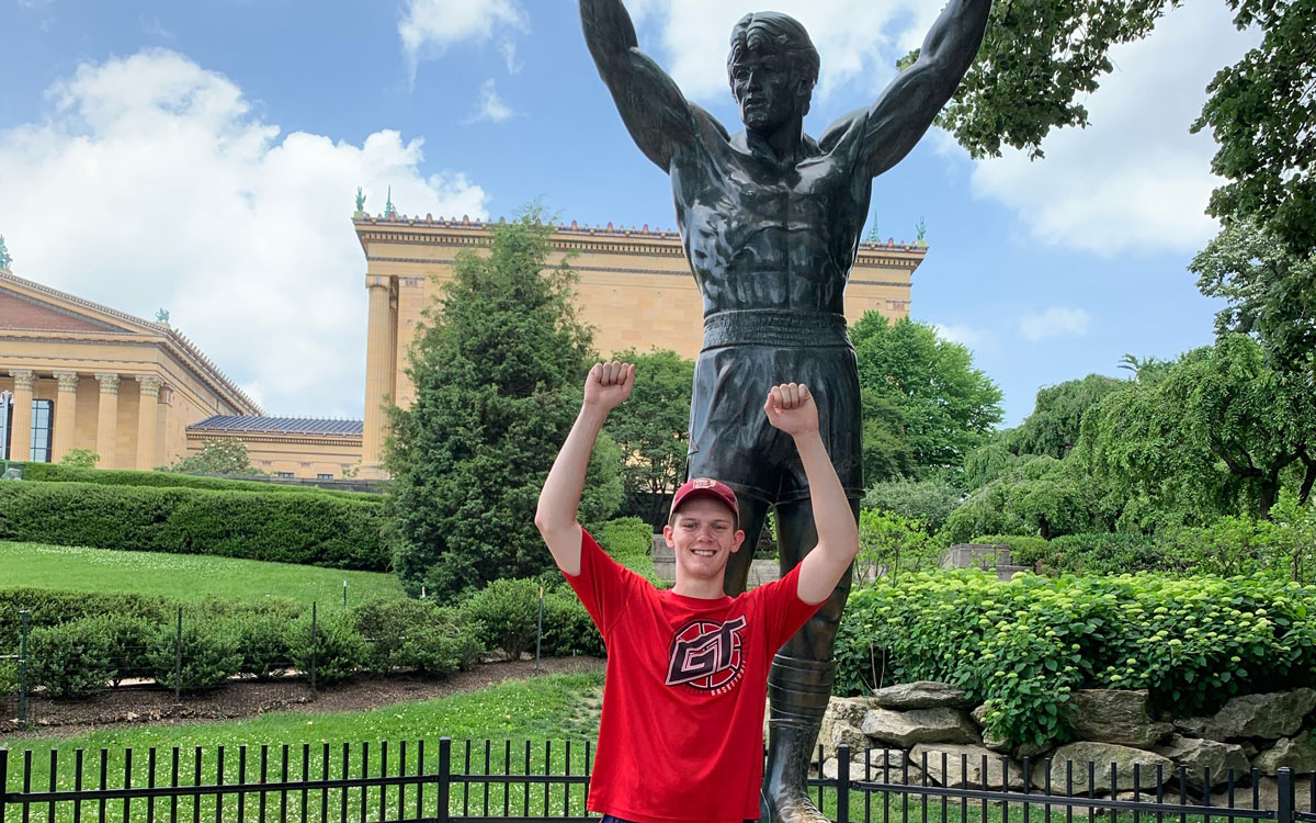
[[[636,26],[621,0],[580,0],[580,25],[630,137],[659,169],[670,171],[672,155],[696,140],[696,108],[640,50]]]

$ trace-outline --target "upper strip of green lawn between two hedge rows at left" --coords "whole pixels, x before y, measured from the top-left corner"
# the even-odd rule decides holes
[[[39,543],[0,541],[0,581],[5,587],[132,591],[179,600],[283,597],[303,603],[318,600],[321,606],[342,604],[342,583],[347,581],[349,604],[371,598],[404,597],[395,575],[378,571]]]

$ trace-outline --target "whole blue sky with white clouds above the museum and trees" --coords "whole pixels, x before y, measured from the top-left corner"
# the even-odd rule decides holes
[[[1219,8],[1217,8],[1219,7]],[[745,0],[632,0],[641,46],[738,126]],[[821,51],[807,128],[871,103],[941,0],[780,0]],[[0,234],[14,273],[121,311],[167,307],[272,413],[359,417],[357,186],[382,211],[675,225],[670,188],[595,72],[572,0],[0,0]],[[1213,72],[1255,41],[1223,3],[1115,54],[1092,125],[1046,159],[975,162],[945,133],[874,186],[870,224],[929,254],[913,316],[970,346],[1005,421],[1124,353],[1209,342],[1186,266],[1213,234]],[[661,341],[654,341],[661,342]]]

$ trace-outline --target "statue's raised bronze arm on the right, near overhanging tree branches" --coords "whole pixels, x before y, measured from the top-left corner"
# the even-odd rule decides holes
[[[870,176],[878,176],[899,163],[919,142],[937,113],[955,93],[987,28],[991,0],[950,0],[928,32],[919,59],[891,82],[867,109],[833,124],[822,145],[866,121],[863,157]]]

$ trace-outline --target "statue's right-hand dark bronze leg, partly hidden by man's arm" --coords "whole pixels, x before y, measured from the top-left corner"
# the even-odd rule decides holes
[[[859,500],[851,499],[855,520]],[[776,536],[782,571],[790,571],[817,545],[813,507],[808,500],[776,506]],[[763,823],[822,823],[826,818],[809,799],[809,760],[832,697],[836,660],[832,647],[850,593],[846,569],[817,614],[791,637],[772,660],[767,677],[769,749],[763,770]]]

